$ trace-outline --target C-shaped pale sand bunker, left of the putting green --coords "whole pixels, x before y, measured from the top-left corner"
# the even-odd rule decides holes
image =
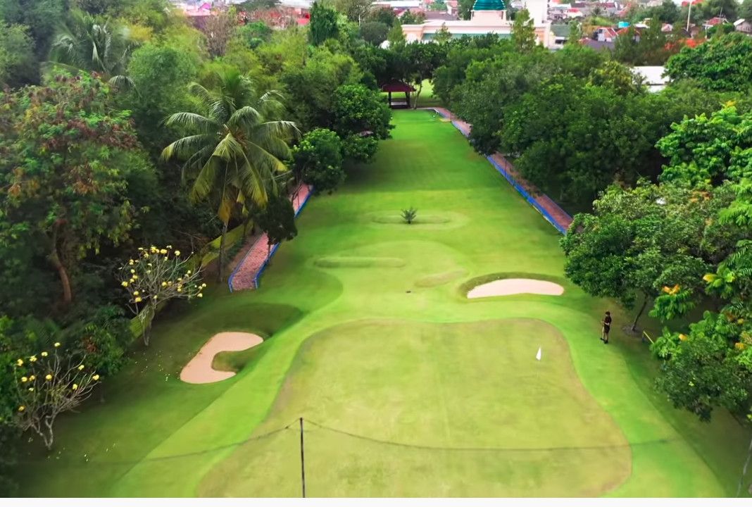
[[[180,380],[188,384],[209,384],[235,376],[235,372],[220,372],[211,367],[214,356],[224,351],[245,351],[264,340],[250,332],[218,332],[204,344],[180,372]]]

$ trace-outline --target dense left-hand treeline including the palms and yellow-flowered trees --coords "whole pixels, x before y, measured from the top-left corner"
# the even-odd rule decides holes
[[[222,280],[231,243],[293,238],[288,192],[374,156],[374,51],[329,8],[199,29],[167,0],[0,2],[0,493],[18,434],[52,446],[208,261]]]

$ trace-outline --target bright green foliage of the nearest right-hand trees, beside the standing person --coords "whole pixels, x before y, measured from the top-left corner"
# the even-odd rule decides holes
[[[655,300],[650,314],[667,323],[652,347],[665,362],[657,385],[702,420],[717,406],[750,411],[750,135],[752,113],[733,106],[675,123],[658,142],[661,183],[609,187],[562,240],[566,273],[587,292]],[[715,310],[677,324],[696,306]]]

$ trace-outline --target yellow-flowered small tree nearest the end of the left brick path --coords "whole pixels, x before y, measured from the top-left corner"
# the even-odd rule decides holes
[[[149,345],[151,320],[156,306],[170,299],[202,298],[206,284],[201,269],[190,269],[190,257],[173,250],[151,246],[120,268],[120,285],[128,292],[128,306],[141,321],[144,345]]]

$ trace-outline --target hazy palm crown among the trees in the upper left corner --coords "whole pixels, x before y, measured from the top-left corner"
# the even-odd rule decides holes
[[[71,11],[50,47],[53,63],[105,74],[111,83],[123,84],[128,57],[134,44],[127,29],[110,26],[83,11]]]

